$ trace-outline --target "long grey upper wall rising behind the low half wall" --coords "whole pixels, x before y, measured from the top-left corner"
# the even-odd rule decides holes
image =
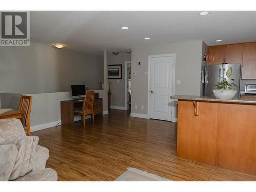
[[[102,56],[34,43],[0,47],[0,69],[0,92],[70,91],[71,84],[96,90],[103,81]]]

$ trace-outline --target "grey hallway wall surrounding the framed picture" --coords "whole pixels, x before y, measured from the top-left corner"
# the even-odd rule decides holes
[[[122,79],[108,79],[108,82],[111,82],[111,105],[123,108],[125,106],[125,61],[131,61],[131,53],[108,55],[108,65],[122,64]]]

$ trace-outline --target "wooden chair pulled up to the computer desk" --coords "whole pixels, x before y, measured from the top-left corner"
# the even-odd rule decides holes
[[[82,109],[74,110],[74,115],[82,116],[82,122],[83,122],[84,128],[86,128],[86,115],[92,115],[92,122],[94,124],[93,102],[94,102],[94,91],[87,91],[82,104]]]

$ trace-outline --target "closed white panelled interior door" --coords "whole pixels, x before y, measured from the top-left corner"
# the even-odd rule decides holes
[[[150,60],[150,118],[172,120],[173,56]]]

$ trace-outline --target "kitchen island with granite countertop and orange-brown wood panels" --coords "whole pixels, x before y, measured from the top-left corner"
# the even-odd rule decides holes
[[[175,95],[177,156],[256,175],[256,99]]]

